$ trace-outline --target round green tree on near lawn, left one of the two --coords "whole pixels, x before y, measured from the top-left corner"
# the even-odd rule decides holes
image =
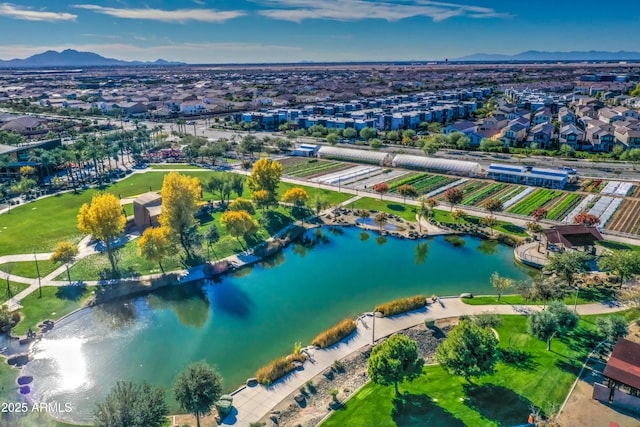
[[[393,384],[398,396],[398,383],[419,377],[423,365],[424,360],[418,355],[416,342],[397,334],[373,348],[367,372],[376,384]]]

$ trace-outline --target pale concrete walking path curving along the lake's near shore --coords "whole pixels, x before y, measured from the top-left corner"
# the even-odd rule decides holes
[[[234,411],[225,418],[223,425],[247,427],[252,422],[269,414],[269,412],[281,401],[298,390],[307,381],[328,369],[333,362],[348,356],[356,351],[361,351],[373,342],[374,321],[375,340],[387,337],[403,329],[407,329],[423,323],[426,319],[443,319],[461,315],[474,315],[480,313],[496,314],[529,314],[541,310],[541,306],[522,305],[468,305],[459,298],[444,298],[441,304],[434,303],[426,308],[390,318],[374,318],[371,313],[362,316],[358,320],[356,331],[345,341],[327,349],[305,349],[309,358],[303,364],[301,371],[287,375],[284,379],[266,387],[242,387],[233,395]],[[619,304],[585,304],[578,306],[578,313],[603,314],[620,311],[625,307]],[[291,403],[294,403],[293,400]]]

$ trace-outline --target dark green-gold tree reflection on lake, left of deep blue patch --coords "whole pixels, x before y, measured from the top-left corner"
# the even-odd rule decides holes
[[[171,308],[178,321],[201,328],[209,318],[209,300],[199,285],[172,286],[149,296],[149,307]]]

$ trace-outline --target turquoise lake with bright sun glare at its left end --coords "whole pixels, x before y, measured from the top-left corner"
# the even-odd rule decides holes
[[[33,398],[70,402],[65,418],[91,419],[119,379],[171,388],[190,362],[215,365],[231,390],[257,368],[347,316],[418,293],[492,293],[494,271],[525,279],[513,250],[462,238],[380,237],[357,228],[309,232],[254,268],[218,283],[163,289],[82,310],[32,348]],[[457,246],[454,246],[456,244]]]

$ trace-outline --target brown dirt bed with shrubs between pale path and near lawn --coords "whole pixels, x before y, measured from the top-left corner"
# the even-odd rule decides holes
[[[451,328],[451,324],[433,329],[418,325],[400,333],[416,340],[420,357],[423,357],[426,363],[433,363],[436,348]],[[334,366],[333,369],[317,375],[302,390],[290,394],[260,421],[266,423],[267,427],[316,426],[331,412],[330,405],[333,401],[330,395],[331,390],[338,390],[337,399],[344,402],[369,382],[367,361],[372,348],[369,345],[342,359],[339,366]],[[301,403],[297,403],[296,395],[304,396],[304,400],[300,399]]]

